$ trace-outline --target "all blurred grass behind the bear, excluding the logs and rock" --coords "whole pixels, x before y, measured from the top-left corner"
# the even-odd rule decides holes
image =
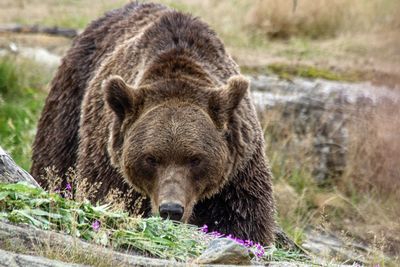
[[[83,29],[126,0],[0,0],[0,24]],[[247,74],[400,84],[399,0],[161,0],[211,25]],[[63,55],[70,40],[0,34],[10,43]],[[55,68],[0,53],[0,144],[30,167],[31,144]],[[293,125],[276,111],[262,116],[274,173],[278,221],[296,242],[314,226],[362,240],[368,257],[396,265],[400,255],[400,116],[398,106],[358,113],[349,128],[346,169],[319,185],[310,147],[288,150]],[[284,121],[284,125],[282,125]],[[312,136],[310,137],[312,138]],[[311,144],[311,141],[310,141]],[[389,255],[391,259],[384,255]]]

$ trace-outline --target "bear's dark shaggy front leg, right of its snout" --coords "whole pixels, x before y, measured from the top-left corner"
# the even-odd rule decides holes
[[[191,222],[267,245],[274,242],[274,216],[271,174],[253,158],[220,193],[196,205]]]

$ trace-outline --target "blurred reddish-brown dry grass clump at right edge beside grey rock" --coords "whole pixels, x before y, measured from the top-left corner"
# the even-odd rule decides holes
[[[399,104],[385,101],[356,111],[350,127],[346,177],[358,190],[393,195],[400,201]],[[399,207],[400,216],[400,207]]]

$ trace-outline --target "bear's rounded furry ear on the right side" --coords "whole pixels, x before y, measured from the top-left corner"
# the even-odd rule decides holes
[[[228,122],[249,90],[250,82],[241,75],[232,76],[222,89],[213,92],[209,99],[209,111],[218,127]]]

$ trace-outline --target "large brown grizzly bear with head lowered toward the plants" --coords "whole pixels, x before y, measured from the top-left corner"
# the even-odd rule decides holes
[[[274,202],[249,81],[205,23],[130,3],[92,22],[51,83],[32,174],[74,167],[96,199],[146,196],[145,216],[273,242]]]

